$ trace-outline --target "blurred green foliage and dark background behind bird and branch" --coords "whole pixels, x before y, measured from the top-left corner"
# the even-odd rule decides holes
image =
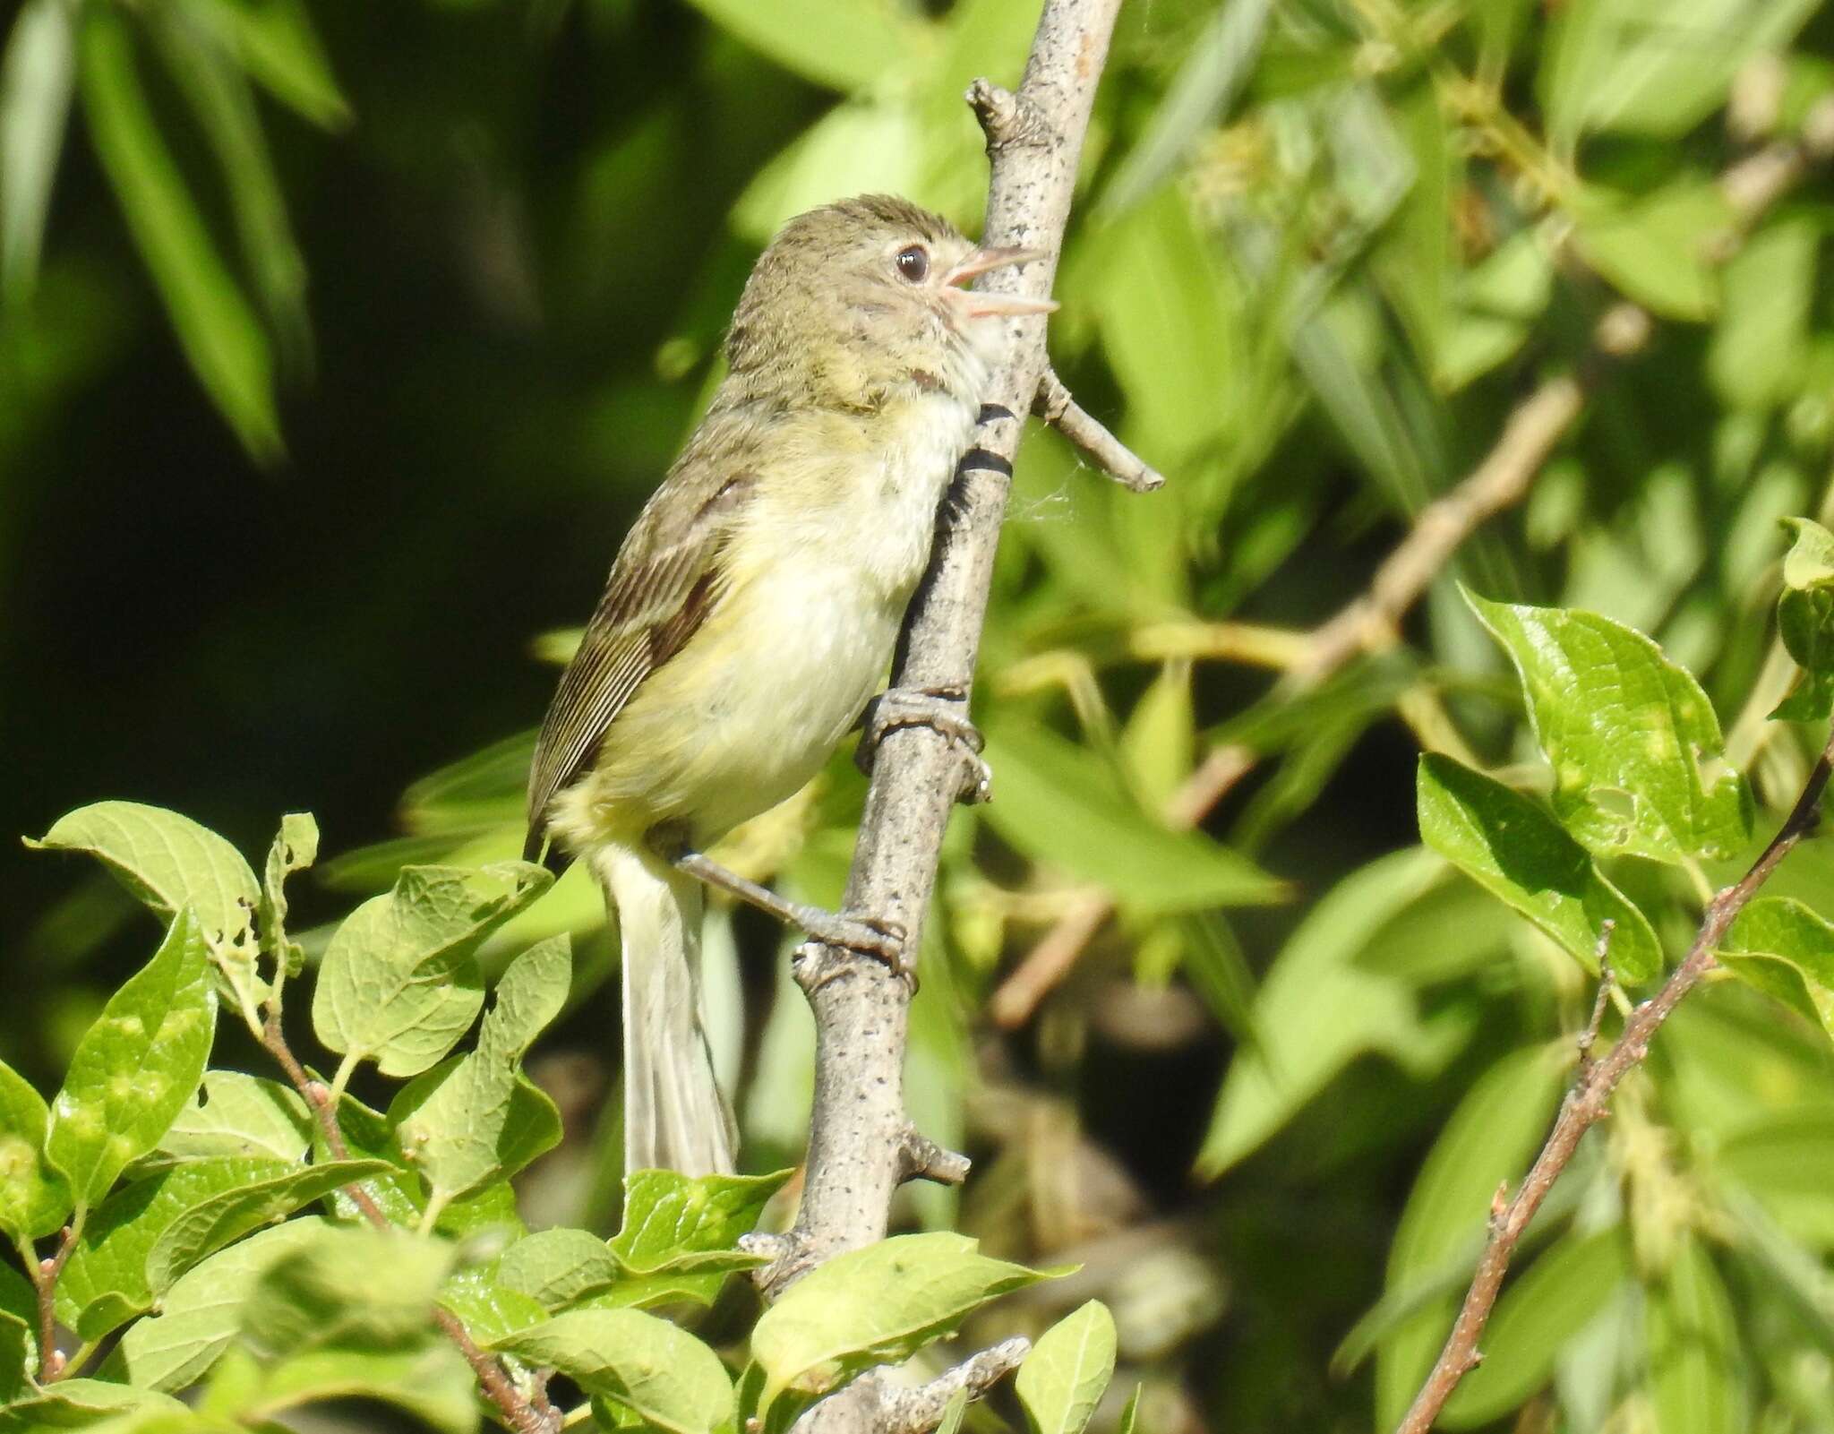
[[[312,959],[310,924],[403,860],[512,856],[530,739],[508,734],[552,682],[526,644],[589,612],[757,248],[864,189],[972,229],[959,95],[1016,79],[1033,20],[29,0],[0,68],[0,825],[134,796],[251,849],[310,805],[343,853],[295,895]],[[1082,1260],[989,1333],[1099,1295],[1144,1427],[1390,1427],[1570,1071],[1581,919],[1634,902],[1673,963],[1801,789],[1821,734],[1768,713],[1825,711],[1792,691],[1814,574],[1781,636],[1770,614],[1777,519],[1834,510],[1834,189],[1810,161],[1753,207],[1720,176],[1825,150],[1830,94],[1834,20],[1806,0],[1122,9],[1051,345],[1170,482],[1113,490],[1049,433],[1022,453],[976,691],[996,800],[956,818],[911,1051],[919,1124],[978,1175],[902,1218]],[[1607,361],[1619,301],[1654,330]],[[1401,642],[1282,678],[1566,374],[1577,422]],[[1458,581],[1599,612],[1698,678],[1654,678],[1691,706],[1680,829],[1592,840],[1621,811],[1570,801],[1537,752],[1546,693],[1508,671],[1546,649],[1502,634],[1506,656]],[[1247,776],[1196,831],[1166,820],[1220,750]],[[1462,798],[1427,847],[1420,750]],[[1720,796],[1735,772],[1755,807]],[[858,800],[842,756],[734,860],[831,900]],[[1511,803],[1579,873],[1570,904],[1519,915],[1447,864]],[[1548,812],[1581,807],[1563,838]],[[0,856],[0,1038],[50,1086],[145,930],[33,860]],[[1684,1003],[1531,1230],[1445,1427],[1834,1430],[1830,875],[1805,845],[1768,889],[1794,906],[1735,932],[1795,1014],[1744,981]],[[1016,1025],[989,1018],[1047,930],[1110,906]],[[559,930],[576,979],[532,1067],[567,1139],[523,1197],[609,1229],[596,893],[565,878],[484,955]],[[779,933],[717,911],[708,944],[748,1159],[792,1163],[811,1049]]]

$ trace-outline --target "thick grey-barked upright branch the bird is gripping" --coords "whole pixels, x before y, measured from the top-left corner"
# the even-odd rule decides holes
[[[1082,138],[1121,0],[1045,0],[1025,79],[1016,94],[987,81],[968,92],[987,132],[992,180],[987,244],[1025,244],[1047,259],[990,277],[990,288],[1045,297],[1064,242]],[[930,572],[906,618],[895,684],[967,693],[974,677],[994,546],[1005,515],[1023,414],[1047,372],[1044,319],[1011,321],[1005,365],[992,376],[974,447],[937,534]],[[941,732],[886,734],[847,882],[847,910],[923,941],[937,853],[963,785],[961,752]],[[884,963],[829,946],[798,952],[796,979],[816,1020],[814,1120],[796,1229],[763,1273],[768,1295],[845,1249],[884,1238],[891,1194],[911,1175],[961,1177],[915,1137],[904,1113],[910,987]]]

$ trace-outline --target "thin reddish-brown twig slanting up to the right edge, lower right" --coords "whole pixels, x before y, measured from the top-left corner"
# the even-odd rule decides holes
[[[1618,1082],[1649,1054],[1649,1042],[1662,1023],[1669,1020],[1669,1014],[1693,990],[1695,983],[1718,963],[1715,948],[1720,937],[1726,935],[1726,928],[1731,926],[1733,919],[1757,895],[1759,888],[1770,880],[1770,873],[1790,855],[1790,849],[1814,829],[1821,814],[1819,803],[1828,783],[1830,763],[1834,763],[1834,735],[1828,737],[1828,745],[1821,750],[1821,757],[1816,761],[1803,794],[1795,800],[1795,807],[1784,818],[1770,845],[1764,847],[1764,853],[1751,864],[1751,869],[1744,873],[1737,886],[1728,886],[1707,902],[1706,913],[1700,919],[1700,930],[1695,933],[1695,943],[1689,946],[1682,965],[1674,968],[1674,974],[1669,976],[1656,996],[1630,1012],[1630,1020],[1625,1021],[1623,1034],[1612,1045],[1610,1053],[1596,1064],[1586,1062],[1581,1065],[1577,1080],[1574,1080],[1572,1089],[1568,1089],[1566,1098],[1561,1102],[1553,1131],[1535,1157],[1535,1164],[1530,1166],[1522,1188],[1509,1201],[1502,1216],[1493,1219],[1489,1241],[1484,1245],[1484,1254],[1478,1256],[1476,1274],[1471,1278],[1471,1289],[1465,1293],[1464,1306],[1453,1324],[1453,1333],[1447,1337],[1440,1359],[1434,1362],[1427,1383],[1414,1397],[1396,1434],[1427,1434],[1445,1401],[1451,1399],[1453,1390],[1458,1388],[1458,1381],[1482,1359],[1478,1339],[1484,1335],[1484,1324],[1497,1304],[1502,1276],[1509,1269],[1509,1256],[1522,1238],[1522,1230],[1528,1229],[1528,1223],[1535,1218],[1535,1210],[1541,1208],[1541,1201],[1546,1199],[1548,1190],[1553,1188],[1561,1172],[1566,1170],[1566,1163],[1579,1148],[1581,1137],[1605,1115]]]

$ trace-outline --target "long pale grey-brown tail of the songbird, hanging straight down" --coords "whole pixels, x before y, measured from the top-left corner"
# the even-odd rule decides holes
[[[647,851],[594,858],[624,944],[624,1168],[732,1174],[732,1109],[701,1029],[701,882]]]

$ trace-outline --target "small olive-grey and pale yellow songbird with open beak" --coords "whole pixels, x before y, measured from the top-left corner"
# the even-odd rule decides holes
[[[794,906],[704,849],[820,770],[860,721],[923,576],[1003,319],[979,249],[904,200],[790,220],[726,336],[728,374],[638,515],[548,708],[528,858],[591,864],[624,946],[625,1168],[734,1168],[701,1031],[702,882],[836,944],[895,933]]]

